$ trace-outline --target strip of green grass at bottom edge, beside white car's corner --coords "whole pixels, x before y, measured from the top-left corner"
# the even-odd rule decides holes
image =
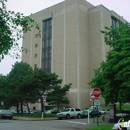
[[[99,125],[99,126],[90,126],[86,130],[111,130],[113,124]]]

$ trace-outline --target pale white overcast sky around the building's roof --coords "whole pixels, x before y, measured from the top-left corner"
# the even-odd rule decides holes
[[[47,7],[60,3],[64,0],[8,0],[6,3],[7,9],[15,12],[21,12],[24,15],[30,15],[31,13],[38,12]],[[120,16],[123,16],[130,22],[130,0],[87,0],[94,6],[102,4],[109,10],[114,10]],[[21,42],[21,41],[20,41]],[[8,74],[12,68],[12,65],[20,61],[6,56],[2,62],[0,62],[0,74]]]

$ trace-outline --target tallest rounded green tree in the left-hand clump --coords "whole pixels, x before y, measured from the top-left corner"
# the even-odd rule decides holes
[[[17,110],[19,103],[21,103],[21,112],[23,112],[23,103],[34,103],[38,100],[32,88],[33,80],[33,70],[29,64],[24,62],[16,62],[8,74],[11,98],[16,102]]]

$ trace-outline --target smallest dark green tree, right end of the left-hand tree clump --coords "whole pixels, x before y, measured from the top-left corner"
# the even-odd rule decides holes
[[[64,85],[56,85],[47,95],[47,102],[50,105],[56,105],[58,110],[60,109],[60,105],[62,104],[69,104],[69,99],[67,98],[67,93],[70,89],[72,84]]]

